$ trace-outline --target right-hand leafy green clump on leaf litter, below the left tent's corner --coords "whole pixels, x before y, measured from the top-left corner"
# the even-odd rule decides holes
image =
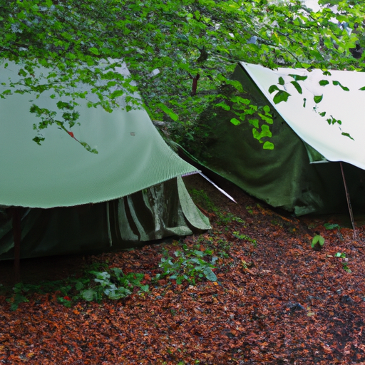
[[[217,277],[212,269],[215,269],[217,257],[212,257],[209,261],[208,257],[212,255],[212,251],[190,250],[187,245],[183,245],[183,251],[175,251],[174,258],[167,253],[158,265],[162,270],[162,274],[157,274],[155,279],[168,277],[170,280],[175,279],[177,284],[182,284],[185,280],[189,284],[194,284],[196,280],[205,279],[212,282],[217,281]]]

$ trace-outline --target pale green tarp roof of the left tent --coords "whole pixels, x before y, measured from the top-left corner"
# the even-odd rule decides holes
[[[0,84],[16,78],[19,67],[0,67]],[[37,145],[32,138],[39,118],[29,108],[36,103],[57,110],[58,100],[49,96],[14,93],[0,100],[0,205],[49,208],[103,202],[196,170],[165,144],[145,110],[108,113],[87,108],[83,99],[76,100],[81,125],[70,131],[98,154],[56,125],[41,130],[46,140]]]

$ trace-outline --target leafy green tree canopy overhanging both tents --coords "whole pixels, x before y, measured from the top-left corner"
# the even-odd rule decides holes
[[[218,100],[218,107],[234,106],[232,123],[239,124],[257,108],[237,96],[242,86],[230,81],[238,61],[269,68],[364,68],[364,1],[319,4],[322,11],[314,12],[299,0],[0,0],[0,58],[23,65],[18,80],[1,80],[14,88],[5,87],[0,97],[51,91],[60,100],[62,118],[35,102],[31,112],[39,123],[34,128],[56,123],[71,137],[78,98],[111,112],[126,96],[128,110],[143,105],[151,118],[168,118],[183,128]],[[113,60],[126,63],[130,78],[115,71],[120,63]],[[50,68],[48,76],[39,78],[38,66]],[[131,79],[143,102],[132,96],[136,83]],[[74,89],[78,83],[88,91]],[[237,93],[222,94],[222,85]],[[293,85],[300,93],[297,80]],[[277,98],[285,101],[287,95]],[[250,123],[263,142],[272,119],[269,110],[261,115],[261,132],[257,119],[250,117]]]

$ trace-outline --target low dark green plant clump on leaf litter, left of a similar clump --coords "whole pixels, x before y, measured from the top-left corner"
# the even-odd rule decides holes
[[[88,302],[100,302],[103,296],[109,299],[123,299],[132,294],[134,287],[139,287],[142,292],[148,292],[149,289],[148,285],[141,283],[144,278],[144,274],[141,273],[130,272],[124,275],[121,269],[113,267],[110,272],[91,271],[90,274],[96,278],[88,284],[88,288],[84,289],[83,282],[76,282],[80,297]]]

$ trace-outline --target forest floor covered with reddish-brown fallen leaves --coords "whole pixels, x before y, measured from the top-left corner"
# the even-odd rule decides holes
[[[237,204],[199,176],[185,183],[211,230],[125,252],[24,260],[15,292],[11,262],[1,262],[0,364],[365,364],[365,226],[358,221],[354,236],[336,216],[297,218],[230,183],[222,187]],[[322,250],[311,247],[315,235]],[[196,269],[182,284],[154,279],[168,257],[217,257],[217,278],[200,280]],[[80,299],[70,277],[98,267],[143,280],[123,299]],[[45,293],[52,280],[63,287]]]

